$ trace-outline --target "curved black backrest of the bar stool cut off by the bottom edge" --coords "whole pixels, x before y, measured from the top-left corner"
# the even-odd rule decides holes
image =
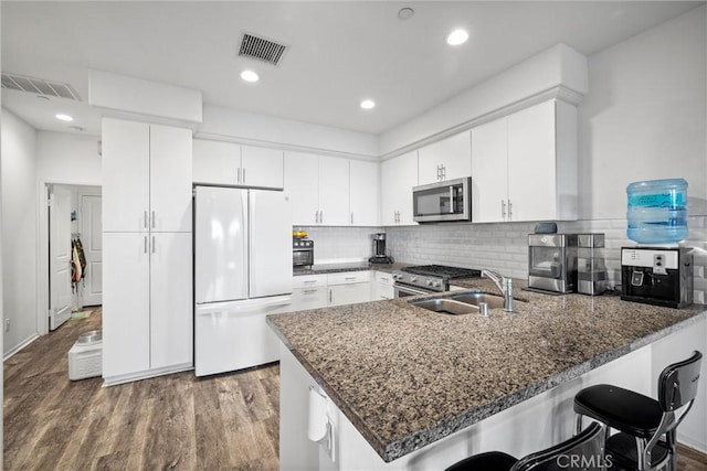
[[[521,458],[510,471],[598,471],[604,467],[604,427],[592,422],[574,437]]]

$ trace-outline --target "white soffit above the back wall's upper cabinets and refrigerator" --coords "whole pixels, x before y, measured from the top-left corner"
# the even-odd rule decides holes
[[[289,148],[324,154],[378,158],[378,137],[274,116],[204,104],[194,133],[204,139],[231,138],[253,146]]]

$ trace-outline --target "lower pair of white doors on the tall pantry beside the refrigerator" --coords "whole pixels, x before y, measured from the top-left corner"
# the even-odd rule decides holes
[[[191,233],[103,234],[107,384],[192,365]]]

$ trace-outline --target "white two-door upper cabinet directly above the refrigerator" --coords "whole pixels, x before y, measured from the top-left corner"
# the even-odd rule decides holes
[[[204,139],[194,139],[193,150],[197,183],[283,188],[282,150]]]

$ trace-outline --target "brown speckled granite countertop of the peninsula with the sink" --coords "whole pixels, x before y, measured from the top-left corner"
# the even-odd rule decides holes
[[[454,285],[497,292],[486,279]],[[392,461],[707,315],[705,307],[547,296],[515,285],[515,298],[528,302],[516,301],[513,314],[441,314],[407,298],[267,321],[378,454]]]

